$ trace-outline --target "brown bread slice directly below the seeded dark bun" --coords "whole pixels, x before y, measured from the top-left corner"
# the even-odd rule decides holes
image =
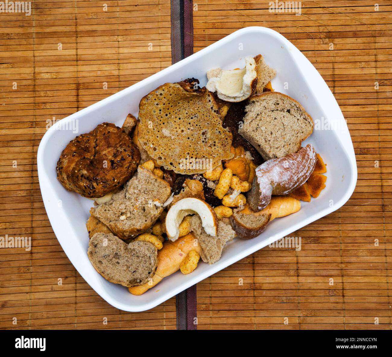
[[[91,208],[90,213],[116,236],[128,239],[145,232],[155,223],[170,195],[167,181],[139,166],[136,176],[120,192],[113,194],[110,201]]]

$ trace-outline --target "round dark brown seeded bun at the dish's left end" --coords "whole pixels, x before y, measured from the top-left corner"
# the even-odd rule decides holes
[[[139,149],[129,135],[102,123],[69,142],[58,159],[57,178],[69,191],[98,198],[127,182],[139,161]]]

